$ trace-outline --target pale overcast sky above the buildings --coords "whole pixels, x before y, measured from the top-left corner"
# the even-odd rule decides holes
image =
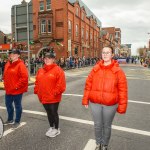
[[[0,5],[0,30],[11,32],[11,6],[22,0],[3,0]],[[30,1],[30,0],[26,0]],[[132,44],[132,54],[148,46],[150,38],[150,0],[82,0],[102,22],[102,27],[121,29],[122,44]]]

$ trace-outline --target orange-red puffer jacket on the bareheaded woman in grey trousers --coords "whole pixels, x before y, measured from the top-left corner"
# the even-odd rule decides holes
[[[89,74],[82,99],[83,105],[92,103],[107,106],[118,104],[117,111],[125,113],[127,108],[127,80],[117,61],[108,66],[98,62]]]

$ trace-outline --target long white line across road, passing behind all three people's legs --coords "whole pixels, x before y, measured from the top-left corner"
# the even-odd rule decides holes
[[[6,109],[6,108],[0,106],[0,109]],[[45,112],[31,111],[31,110],[23,110],[23,112],[24,113],[28,113],[28,114],[35,114],[35,115],[46,116]],[[71,117],[66,117],[66,116],[60,116],[60,119],[67,120],[67,121],[72,121],[72,122],[83,123],[83,124],[88,124],[88,125],[94,125],[93,121],[83,120],[83,119],[78,119],[78,118],[71,118]],[[129,132],[129,133],[135,133],[135,134],[150,136],[150,132],[149,131],[137,130],[137,129],[126,128],[126,127],[115,126],[115,125],[112,125],[112,128],[115,129],[115,130],[119,130],[119,131],[125,131],[125,132]]]

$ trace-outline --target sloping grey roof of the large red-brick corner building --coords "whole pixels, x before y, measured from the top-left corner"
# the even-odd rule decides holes
[[[85,8],[87,16],[88,17],[93,16],[94,19],[96,19],[98,26],[101,27],[101,25],[102,25],[101,21],[94,15],[94,13],[81,0],[68,0],[68,2],[70,2],[71,4],[74,4],[75,2],[79,2],[80,7]]]

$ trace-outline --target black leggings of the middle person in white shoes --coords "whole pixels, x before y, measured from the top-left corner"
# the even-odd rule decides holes
[[[46,112],[47,112],[47,117],[48,121],[50,124],[50,127],[55,127],[55,129],[58,129],[59,127],[59,116],[58,116],[58,103],[53,103],[53,104],[43,104]]]

